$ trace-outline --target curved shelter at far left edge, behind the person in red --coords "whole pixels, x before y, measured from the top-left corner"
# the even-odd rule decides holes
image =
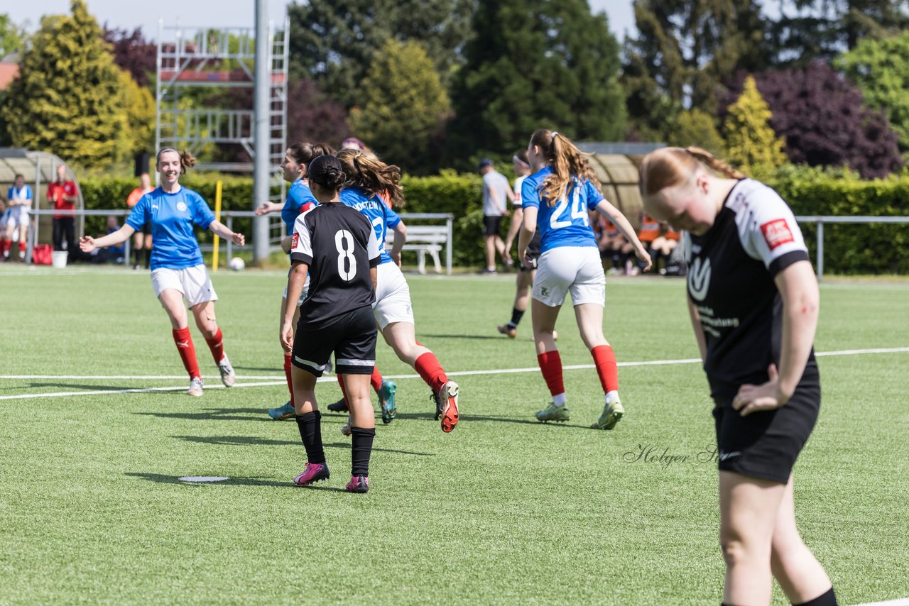
[[[79,182],[75,178],[73,169],[54,154],[32,152],[22,147],[0,147],[0,195],[5,196],[6,191],[15,181],[15,175],[21,174],[25,177],[25,184],[32,186],[32,194],[35,195],[35,200],[32,201],[32,208],[50,209],[52,206],[47,202],[47,184],[56,179],[56,169],[60,164],[66,166],[66,178],[75,183],[75,189],[79,195],[76,209],[84,209],[85,203],[82,199],[82,188],[79,187]],[[28,258],[31,258],[32,245],[51,243],[52,224],[53,218],[49,214],[40,214],[32,217]],[[75,222],[76,237],[84,232],[85,217],[78,215]]]

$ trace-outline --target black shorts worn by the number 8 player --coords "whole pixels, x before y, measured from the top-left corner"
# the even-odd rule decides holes
[[[375,333],[371,305],[342,313],[328,325],[301,327],[297,323],[291,360],[297,368],[321,377],[335,353],[335,373],[372,374]]]

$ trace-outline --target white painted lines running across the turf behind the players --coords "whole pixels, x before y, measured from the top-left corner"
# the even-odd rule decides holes
[[[817,357],[823,356],[832,356],[832,355],[864,355],[867,353],[907,353],[909,352],[909,347],[893,347],[893,348],[878,348],[878,349],[850,349],[850,350],[841,350],[838,352],[818,352],[815,353]],[[666,366],[674,364],[693,364],[700,363],[700,358],[683,358],[680,360],[649,360],[644,362],[620,362],[618,366],[630,367],[630,366]],[[578,370],[588,370],[594,368],[594,364],[573,364],[569,366],[563,366],[562,369],[565,371],[578,371]],[[497,369],[494,371],[460,371],[456,373],[447,373],[450,377],[460,377],[460,376],[469,376],[475,374],[515,374],[515,373],[538,373],[539,368],[536,366],[530,368],[503,368]],[[386,375],[386,379],[418,379],[419,374],[394,374]],[[161,376],[154,377],[141,377],[141,376],[124,376],[124,375],[113,375],[113,376],[55,376],[55,375],[0,375],[0,379],[12,379],[12,378],[32,378],[32,379],[95,379],[95,380],[115,380],[115,379],[136,379],[136,380],[145,380],[145,379],[155,379],[155,378],[165,378]],[[174,377],[175,379],[185,379],[185,375]],[[252,378],[252,377],[251,377]],[[262,379],[272,379],[272,377],[261,377]],[[264,381],[264,382],[250,382],[250,383],[237,383],[234,387],[268,387],[274,385],[286,385],[287,382],[284,377],[274,377],[274,381]],[[332,376],[320,377],[318,382],[335,382],[337,378]],[[133,389],[119,389],[119,390],[95,390],[91,392],[53,392],[53,393],[22,393],[17,395],[2,395],[0,396],[0,401],[2,400],[25,400],[29,398],[63,398],[74,395],[104,395],[107,393],[146,393],[146,392],[179,392],[185,390],[186,387],[183,385],[175,387],[142,387],[142,388],[133,388]],[[205,389],[225,389],[224,385],[209,385]]]

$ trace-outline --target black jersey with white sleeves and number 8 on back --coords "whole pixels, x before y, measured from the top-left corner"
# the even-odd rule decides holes
[[[375,300],[369,269],[379,264],[379,243],[364,214],[345,204],[319,204],[294,224],[291,261],[309,265],[309,291],[300,326],[331,323]]]

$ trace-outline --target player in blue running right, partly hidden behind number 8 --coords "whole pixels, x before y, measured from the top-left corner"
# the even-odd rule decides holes
[[[416,342],[410,287],[399,268],[407,231],[400,217],[381,197],[381,194],[388,195],[397,206],[404,203],[401,169],[371,159],[357,150],[341,150],[337,157],[347,176],[341,202],[366,215],[382,249],[373,305],[375,321],[379,323],[385,343],[391,345],[398,358],[410,364],[432,389],[435,419],[441,418],[443,432],[451,432],[459,418],[458,384],[448,380],[435,354]],[[389,228],[395,230],[391,253],[385,251],[385,234]]]

